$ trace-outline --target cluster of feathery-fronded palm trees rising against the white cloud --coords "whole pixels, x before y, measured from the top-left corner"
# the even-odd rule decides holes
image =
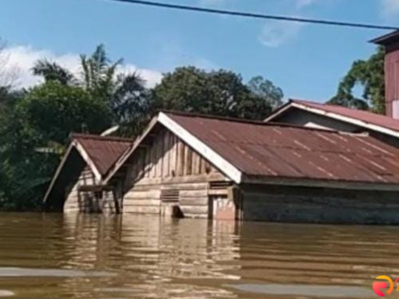
[[[78,85],[85,89],[93,99],[105,101],[115,114],[115,125],[121,125],[123,135],[134,135],[141,129],[138,119],[148,112],[148,91],[145,80],[137,73],[118,74],[122,59],[111,61],[103,44],[87,56],[80,55],[80,74],[72,72],[56,62],[41,59],[32,68],[34,75],[44,77],[45,81],[57,80],[65,85]]]

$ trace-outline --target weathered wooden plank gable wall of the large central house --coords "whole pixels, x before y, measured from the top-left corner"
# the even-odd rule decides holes
[[[161,200],[162,190],[176,190],[185,217],[207,218],[209,182],[225,179],[177,136],[161,130],[132,158],[124,184],[123,212],[160,214],[163,205],[171,205]]]

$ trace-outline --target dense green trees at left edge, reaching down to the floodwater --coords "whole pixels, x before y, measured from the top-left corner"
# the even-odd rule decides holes
[[[70,132],[98,134],[111,120],[108,105],[81,87],[49,81],[29,90],[0,128],[0,206],[17,210],[40,207],[59,155],[39,149],[65,145]]]

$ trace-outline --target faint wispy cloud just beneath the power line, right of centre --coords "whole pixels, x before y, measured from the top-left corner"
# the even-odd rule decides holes
[[[303,23],[299,22],[266,22],[259,36],[259,41],[268,47],[278,47],[295,38]]]

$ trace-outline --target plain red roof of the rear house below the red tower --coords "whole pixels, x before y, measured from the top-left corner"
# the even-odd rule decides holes
[[[342,106],[321,104],[321,103],[315,103],[315,102],[303,101],[303,100],[290,100],[290,103],[304,105],[309,108],[323,110],[327,113],[335,113],[335,114],[339,114],[341,116],[360,120],[360,121],[368,123],[368,124],[373,124],[373,125],[384,127],[384,128],[391,129],[394,131],[399,131],[399,120],[395,120],[395,119],[385,116],[385,115],[375,114],[375,113],[364,111],[364,110],[357,110],[357,109],[351,109],[351,108],[342,107]]]

